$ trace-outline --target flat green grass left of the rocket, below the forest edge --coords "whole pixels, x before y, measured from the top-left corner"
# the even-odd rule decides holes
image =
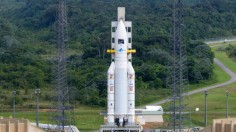
[[[88,131],[94,131],[99,130],[100,125],[103,124],[104,119],[103,116],[100,115],[101,109],[100,108],[92,108],[92,107],[85,107],[80,106],[81,108],[75,109],[73,112],[74,117],[74,123],[77,126],[77,128],[81,132],[88,132]],[[16,109],[16,118],[18,119],[28,119],[31,122],[35,122],[35,111],[17,111]],[[39,122],[40,123],[51,123],[55,124],[56,122],[51,122],[49,120],[50,113],[48,111],[41,111],[39,112]],[[0,116],[9,118],[12,117],[12,112],[0,112]]]

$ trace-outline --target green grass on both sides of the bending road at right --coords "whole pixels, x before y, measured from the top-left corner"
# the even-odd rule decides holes
[[[228,42],[228,43],[216,43],[211,44],[212,51],[215,53],[215,57],[219,59],[226,67],[236,73],[236,62],[234,62],[231,58],[229,58],[224,52],[216,51],[220,46],[226,47],[228,44],[235,45],[236,42]],[[214,65],[214,76],[215,81],[218,83],[222,83],[224,81],[229,80],[229,75],[227,75],[219,66]],[[209,83],[209,82],[207,82]],[[206,84],[207,84],[206,83]],[[204,84],[200,84],[204,85]],[[217,118],[225,118],[226,116],[226,94],[225,92],[229,91],[229,116],[236,117],[236,83],[230,84],[225,87],[219,87],[217,89],[209,90],[209,95],[207,96],[207,107],[208,107],[208,125],[212,124],[213,119]],[[190,99],[190,107],[192,109],[192,123],[196,126],[204,126],[204,93],[197,93],[191,95]],[[195,108],[199,108],[199,112],[194,112]]]

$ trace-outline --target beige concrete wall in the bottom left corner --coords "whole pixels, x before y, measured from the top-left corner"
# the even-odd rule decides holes
[[[44,132],[26,119],[0,119],[0,132]]]

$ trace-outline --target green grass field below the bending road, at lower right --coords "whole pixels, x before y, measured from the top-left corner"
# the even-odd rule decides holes
[[[236,117],[236,83],[231,85],[220,87],[217,89],[209,90],[207,96],[208,107],[208,124],[212,123],[213,119],[225,118],[226,113],[226,94],[225,91],[230,92],[229,96],[229,116]],[[204,126],[204,93],[198,93],[190,96],[190,107],[194,111],[195,108],[199,108],[199,112],[192,114],[192,122],[198,126]]]

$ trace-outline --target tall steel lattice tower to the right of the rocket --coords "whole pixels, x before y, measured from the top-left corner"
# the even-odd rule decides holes
[[[172,131],[182,131],[189,127],[188,98],[188,69],[185,45],[183,44],[183,3],[182,0],[173,0],[173,63],[171,76],[167,86],[171,88],[170,120],[169,126]]]

